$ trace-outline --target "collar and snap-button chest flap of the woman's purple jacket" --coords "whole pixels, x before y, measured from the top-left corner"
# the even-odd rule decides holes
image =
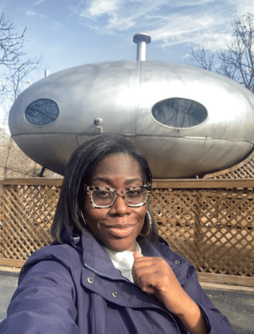
[[[136,284],[122,277],[121,272],[114,267],[108,254],[91,234],[82,233],[78,237],[73,236],[71,232],[65,232],[63,241],[80,253],[83,262],[81,283],[84,289],[123,307],[159,308],[171,316],[154,295],[147,294]],[[181,285],[193,272],[193,267],[180,255],[172,252],[162,238],[153,244],[147,239],[138,243],[143,255],[163,257],[174,270]]]

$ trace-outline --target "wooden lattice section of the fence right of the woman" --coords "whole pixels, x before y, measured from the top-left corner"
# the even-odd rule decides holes
[[[254,276],[253,189],[156,189],[159,234],[198,271]]]

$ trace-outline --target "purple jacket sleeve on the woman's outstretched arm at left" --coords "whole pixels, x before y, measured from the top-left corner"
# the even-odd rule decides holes
[[[71,256],[65,249],[58,258],[43,252],[32,254],[22,268],[1,334],[79,333],[72,272],[65,264]]]

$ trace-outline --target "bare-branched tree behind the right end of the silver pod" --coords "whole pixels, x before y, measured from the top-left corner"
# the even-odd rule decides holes
[[[205,43],[191,47],[191,65],[213,71],[243,84],[254,93],[254,14],[233,18],[232,41],[223,51],[209,50]]]

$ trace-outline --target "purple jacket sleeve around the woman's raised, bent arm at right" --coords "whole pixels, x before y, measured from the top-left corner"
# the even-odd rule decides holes
[[[221,312],[213,305],[208,298],[199,282],[197,281],[196,272],[193,271],[189,280],[182,286],[188,295],[200,307],[203,316],[210,329],[209,334],[235,334],[230,326],[228,318],[223,316]]]

